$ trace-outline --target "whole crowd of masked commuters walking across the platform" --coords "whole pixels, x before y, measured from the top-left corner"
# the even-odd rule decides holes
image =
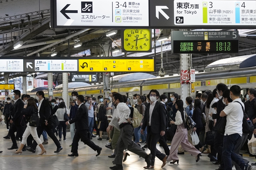
[[[106,132],[105,147],[114,150],[114,153],[108,156],[115,158],[115,166],[110,167],[112,170],[123,170],[122,163],[129,156],[126,150],[144,158],[145,169],[154,168],[156,157],[162,161],[162,168],[167,160],[172,160],[170,164],[179,164],[178,155],[184,154],[185,151],[193,155],[196,162],[202,153],[208,153],[210,161],[219,165],[217,170],[231,170],[233,165],[237,170],[250,170],[252,166],[256,166],[256,163],[248,165],[249,162],[239,154],[242,146],[247,146],[247,139],[250,140],[256,134],[254,88],[248,89],[242,101],[239,86],[233,85],[228,89],[225,84],[219,83],[212,92],[197,93],[195,100],[186,97],[185,103],[180,100],[178,94],[172,94],[168,101],[165,94],[160,95],[157,90],[152,89],[147,96],[133,95],[132,104],[127,96],[117,92],[110,93],[108,99],[104,99],[103,96],[96,99],[91,96],[84,97],[73,91],[70,107],[62,98],[51,101],[46,99],[43,91],[38,91],[35,99],[29,95],[21,96],[19,90],[13,92],[12,100],[7,98],[7,102],[1,108],[8,131],[4,138],[12,140],[12,146],[8,149],[16,149],[15,154],[22,154],[25,150],[35,153],[37,145],[42,150],[39,155],[46,153],[43,144],[48,143],[47,134],[57,147],[55,152],[60,152],[60,141],[66,140],[67,125],[70,125],[72,143],[71,154],[68,156],[79,155],[80,139],[97,152],[96,156],[100,155],[102,148],[95,145],[91,139],[99,136],[98,140],[103,140]],[[136,113],[134,109],[142,115],[142,121],[136,128],[133,128],[133,119],[130,116],[131,112]],[[242,131],[243,111],[255,128],[248,134]],[[39,117],[37,127],[30,125],[32,115]],[[50,117],[53,115],[56,115],[59,122],[56,126],[51,122]],[[193,128],[189,128],[187,117],[196,123]],[[223,117],[226,125],[225,132],[221,133],[215,130],[221,126]],[[94,130],[96,134],[93,133]],[[207,137],[209,132],[214,134],[211,145]],[[195,146],[191,140],[192,133],[199,138]],[[40,140],[41,135],[43,142]],[[16,140],[21,141],[19,148]],[[170,148],[167,141],[171,142]],[[157,149],[157,142],[163,147],[164,153]],[[142,144],[144,146],[141,146]],[[149,149],[150,154],[147,154],[145,149]],[[248,147],[246,150],[248,151]]]

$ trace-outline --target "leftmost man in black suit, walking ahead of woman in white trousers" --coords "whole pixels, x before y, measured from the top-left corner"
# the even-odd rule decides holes
[[[18,149],[14,132],[17,132],[17,138],[22,140],[22,135],[25,131],[24,127],[26,124],[26,120],[23,118],[21,113],[21,110],[24,107],[24,102],[20,99],[19,90],[13,90],[12,99],[14,100],[14,104],[12,106],[11,114],[9,117],[10,123],[12,124],[9,130],[9,135],[12,139],[12,147],[8,148],[9,150]]]

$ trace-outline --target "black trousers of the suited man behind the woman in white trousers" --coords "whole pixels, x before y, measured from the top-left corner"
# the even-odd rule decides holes
[[[54,135],[51,126],[49,126],[49,125],[46,126],[45,123],[40,123],[40,125],[37,127],[38,137],[40,138],[40,136],[42,135],[44,130],[46,131],[48,136],[53,139],[53,141],[54,141],[55,145],[57,146],[57,148],[60,148],[61,146],[60,146],[59,140]],[[31,148],[34,149],[34,150],[37,148],[37,142],[35,140],[34,140],[32,146],[31,146]]]

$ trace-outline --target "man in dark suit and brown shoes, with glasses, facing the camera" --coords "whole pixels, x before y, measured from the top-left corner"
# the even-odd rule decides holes
[[[150,149],[152,154],[151,166],[154,168],[155,157],[162,160],[162,167],[166,165],[167,155],[161,153],[157,148],[156,144],[160,137],[165,135],[165,123],[166,123],[166,112],[165,105],[158,102],[159,92],[157,90],[150,90],[151,102],[147,104],[145,111],[141,133],[147,127],[147,147]]]

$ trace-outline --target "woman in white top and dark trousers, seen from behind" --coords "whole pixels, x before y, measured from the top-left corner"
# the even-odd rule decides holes
[[[61,141],[61,136],[62,136],[62,128],[63,128],[63,140],[66,140],[66,120],[64,119],[64,114],[65,112],[69,116],[69,110],[66,108],[65,102],[61,102],[59,104],[59,108],[57,109],[55,115],[57,116],[59,120],[59,125],[58,125],[58,130],[59,130],[59,141]]]

